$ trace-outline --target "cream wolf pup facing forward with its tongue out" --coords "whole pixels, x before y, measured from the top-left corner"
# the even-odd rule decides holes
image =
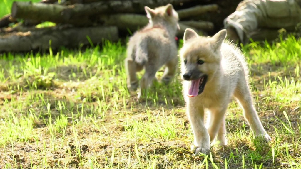
[[[215,138],[220,145],[227,144],[225,112],[233,97],[243,108],[253,133],[265,141],[271,140],[252,103],[244,56],[236,47],[224,42],[225,36],[226,29],[213,37],[199,36],[192,29],[184,33],[180,51],[183,94],[194,132],[191,149],[196,154],[209,153],[210,142]],[[206,127],[204,109],[208,110]]]

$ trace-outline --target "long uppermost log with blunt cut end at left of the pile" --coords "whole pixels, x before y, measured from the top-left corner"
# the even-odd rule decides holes
[[[139,13],[144,11],[144,6],[155,8],[171,2],[180,4],[194,0],[110,0],[89,4],[58,5],[31,2],[14,2],[11,15],[15,18],[36,21],[51,21],[54,23],[73,24],[76,26],[90,26],[97,23],[96,16],[114,13]],[[208,7],[207,7],[208,6]],[[193,8],[180,12],[187,17],[196,10],[213,10],[214,5],[205,8]],[[197,12],[200,14],[200,12]]]

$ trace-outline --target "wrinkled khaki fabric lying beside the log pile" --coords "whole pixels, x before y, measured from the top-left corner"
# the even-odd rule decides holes
[[[250,38],[250,32],[260,28],[292,30],[301,22],[299,3],[300,0],[244,0],[224,20],[224,26],[235,28],[242,43]]]

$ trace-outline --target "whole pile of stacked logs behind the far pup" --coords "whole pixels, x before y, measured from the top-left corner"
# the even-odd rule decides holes
[[[11,14],[0,20],[0,52],[47,50],[50,41],[52,49],[61,46],[97,44],[103,39],[118,41],[119,38],[129,35],[129,32],[135,32],[148,23],[144,6],[156,8],[168,3],[174,6],[180,18],[179,37],[183,36],[184,30],[188,27],[206,34],[214,31],[216,20],[203,21],[200,20],[200,16],[220,13],[219,5],[214,2],[218,4],[222,0],[14,2]],[[230,14],[230,11],[228,13]],[[55,26],[36,28],[36,25],[45,21],[53,22]],[[10,27],[12,24],[15,26]]]

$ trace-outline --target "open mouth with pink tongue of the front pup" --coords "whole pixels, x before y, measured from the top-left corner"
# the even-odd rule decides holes
[[[207,75],[203,75],[201,78],[191,80],[191,86],[188,91],[188,97],[195,97],[204,91],[205,84],[207,82]]]

